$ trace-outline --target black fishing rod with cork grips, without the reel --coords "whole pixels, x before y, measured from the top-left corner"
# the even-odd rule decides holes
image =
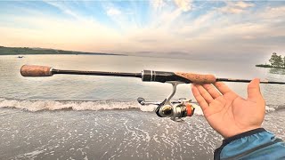
[[[199,75],[185,72],[165,72],[154,70],[142,70],[141,73],[124,73],[124,72],[103,72],[103,71],[83,71],[83,70],[62,70],[45,66],[28,66],[24,65],[20,68],[22,76],[53,76],[61,75],[90,75],[90,76],[127,76],[139,77],[145,82],[181,82],[183,84],[215,84],[216,82],[237,82],[249,83],[248,79],[233,78],[216,78],[213,75]],[[260,81],[261,84],[285,84],[285,82]]]

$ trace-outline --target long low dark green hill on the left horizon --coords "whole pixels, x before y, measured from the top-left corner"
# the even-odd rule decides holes
[[[102,52],[75,52],[45,48],[5,47],[0,46],[0,55],[28,55],[28,54],[87,54],[87,55],[124,55]]]

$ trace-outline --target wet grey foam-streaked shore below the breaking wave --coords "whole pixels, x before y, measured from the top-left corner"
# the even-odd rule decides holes
[[[282,139],[284,113],[265,118]],[[222,140],[203,116],[177,123],[138,109],[0,108],[0,124],[0,159],[212,159]]]

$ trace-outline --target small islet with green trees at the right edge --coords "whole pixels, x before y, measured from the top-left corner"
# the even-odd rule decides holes
[[[271,56],[269,64],[259,64],[256,65],[256,67],[260,68],[285,68],[285,56],[282,58],[281,55],[278,55],[276,52],[273,52],[273,55]]]

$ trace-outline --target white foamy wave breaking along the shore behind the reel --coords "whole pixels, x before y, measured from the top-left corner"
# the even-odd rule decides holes
[[[203,115],[199,105],[192,103],[195,115]],[[40,110],[106,110],[139,108],[145,112],[153,111],[157,106],[141,106],[136,100],[9,100],[0,98],[0,108],[20,108],[36,112]],[[276,108],[265,107],[266,112],[273,112]]]

